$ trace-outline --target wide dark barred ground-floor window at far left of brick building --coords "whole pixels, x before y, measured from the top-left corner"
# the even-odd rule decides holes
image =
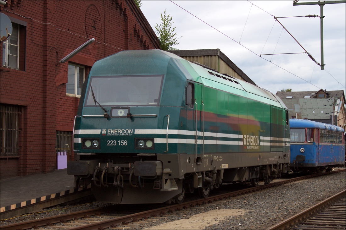
[[[0,104],[0,156],[18,156],[20,107]]]

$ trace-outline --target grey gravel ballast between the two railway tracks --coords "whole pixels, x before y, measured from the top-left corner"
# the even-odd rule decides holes
[[[204,226],[205,230],[267,229],[345,189],[346,172],[330,174],[232,197],[211,203],[204,208],[200,206],[197,209],[181,211],[174,217],[163,217],[149,226],[127,229],[150,228],[166,222],[187,219],[192,215],[214,209],[245,210],[245,214],[227,217],[221,221],[215,219],[215,224]],[[181,229],[191,229],[191,226]]]

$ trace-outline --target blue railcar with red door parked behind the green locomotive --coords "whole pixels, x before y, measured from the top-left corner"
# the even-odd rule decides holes
[[[290,134],[294,172],[328,172],[344,164],[344,129],[316,121],[290,119]]]

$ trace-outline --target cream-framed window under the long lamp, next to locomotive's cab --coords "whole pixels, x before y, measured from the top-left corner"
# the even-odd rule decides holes
[[[69,64],[69,73],[66,83],[67,96],[81,96],[81,91],[84,82],[85,68],[83,66]]]

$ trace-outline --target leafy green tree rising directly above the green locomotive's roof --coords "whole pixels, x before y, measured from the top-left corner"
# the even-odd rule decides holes
[[[179,39],[176,38],[175,26],[172,27],[173,21],[170,15],[166,15],[166,9],[162,15],[161,13],[161,23],[156,24],[156,35],[160,40],[160,46],[162,50],[176,50],[173,46],[179,44]]]

